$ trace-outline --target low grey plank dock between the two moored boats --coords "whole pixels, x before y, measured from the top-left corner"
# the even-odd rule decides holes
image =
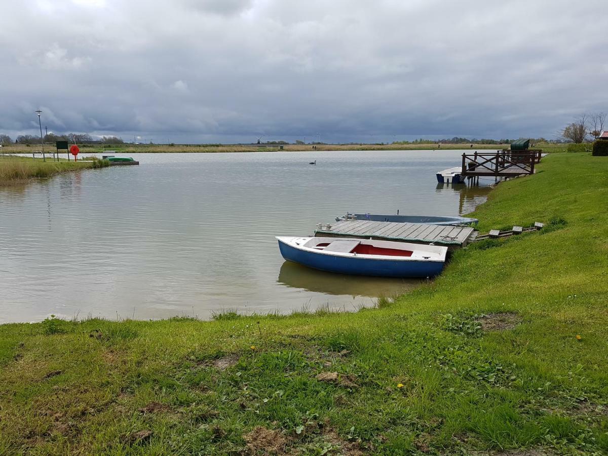
[[[469,226],[342,220],[334,225],[322,224],[314,231],[314,235],[436,244],[449,249],[460,249],[475,240],[477,231]]]

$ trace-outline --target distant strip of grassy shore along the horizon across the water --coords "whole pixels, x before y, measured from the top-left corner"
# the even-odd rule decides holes
[[[48,145],[54,147],[54,145]],[[133,153],[212,153],[212,152],[267,152],[277,151],[278,145],[268,146],[247,146],[240,144],[116,144],[103,147],[98,144],[84,144],[80,146],[83,153],[103,153],[105,150],[113,150],[120,154]],[[317,150],[335,151],[335,150],[437,150],[437,143],[429,144],[320,144],[317,145]],[[508,149],[508,144],[474,144],[471,148],[470,144],[441,144],[440,150],[498,150]],[[539,143],[535,147],[541,148],[547,152],[563,152],[567,148],[567,144],[548,144]],[[309,144],[285,144],[283,150],[288,152],[310,151],[313,146]],[[32,147],[16,144],[2,148],[7,153],[29,153]]]

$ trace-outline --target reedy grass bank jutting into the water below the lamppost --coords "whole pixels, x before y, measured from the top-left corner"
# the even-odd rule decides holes
[[[109,166],[106,160],[89,159],[88,161],[69,162],[53,161],[41,158],[0,156],[0,187],[3,185],[22,184],[32,179],[50,178],[66,171]]]

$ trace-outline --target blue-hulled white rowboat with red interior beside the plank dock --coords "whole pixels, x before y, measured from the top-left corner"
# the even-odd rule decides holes
[[[288,261],[320,271],[377,277],[433,277],[443,270],[447,247],[357,238],[278,236]]]

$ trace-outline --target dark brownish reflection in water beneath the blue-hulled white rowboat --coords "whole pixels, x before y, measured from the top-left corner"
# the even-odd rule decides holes
[[[379,297],[404,292],[420,285],[420,280],[353,277],[306,268],[300,264],[285,261],[278,273],[277,282],[291,288],[299,288],[331,295],[351,295],[352,297]]]

